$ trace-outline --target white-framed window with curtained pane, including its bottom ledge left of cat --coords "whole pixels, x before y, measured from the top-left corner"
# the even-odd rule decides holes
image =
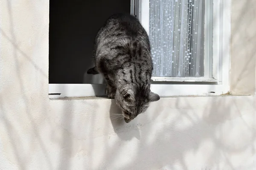
[[[231,0],[131,0],[151,41],[151,90],[160,96],[229,91]],[[49,84],[53,97],[102,96],[102,84]]]

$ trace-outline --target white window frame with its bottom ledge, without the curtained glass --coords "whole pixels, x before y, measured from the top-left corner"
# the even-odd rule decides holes
[[[212,4],[212,11],[209,8]],[[209,13],[213,14],[213,22]],[[136,14],[143,27],[149,28],[149,0],[131,0],[131,14]],[[231,0],[205,0],[205,23],[212,23],[212,55],[204,60],[209,77],[152,77],[151,91],[160,96],[208,96],[229,92]],[[209,55],[209,29],[205,29],[205,55]],[[212,71],[212,72],[211,72]],[[196,82],[196,83],[194,83]],[[194,83],[194,84],[193,84]],[[49,84],[49,98],[104,96],[102,84]]]

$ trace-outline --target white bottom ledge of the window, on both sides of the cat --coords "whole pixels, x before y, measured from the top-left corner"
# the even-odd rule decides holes
[[[49,98],[105,96],[100,84],[50,84]],[[151,84],[151,91],[163,96],[213,96],[228,93],[223,85]],[[96,95],[97,94],[97,95]]]

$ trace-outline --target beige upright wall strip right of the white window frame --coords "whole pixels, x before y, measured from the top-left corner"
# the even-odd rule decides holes
[[[256,0],[232,0],[232,94],[254,94],[256,65]]]

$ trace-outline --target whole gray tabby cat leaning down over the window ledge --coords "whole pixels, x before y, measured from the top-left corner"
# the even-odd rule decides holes
[[[148,35],[136,17],[115,14],[99,30],[94,42],[94,68],[107,82],[105,93],[115,98],[125,122],[130,122],[160,99],[150,91],[153,70]]]

